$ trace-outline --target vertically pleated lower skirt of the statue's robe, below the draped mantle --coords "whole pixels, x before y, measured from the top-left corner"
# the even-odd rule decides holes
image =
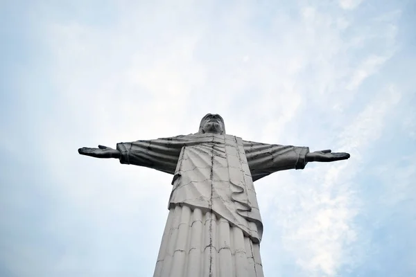
[[[263,277],[258,243],[216,213],[171,208],[154,277]]]

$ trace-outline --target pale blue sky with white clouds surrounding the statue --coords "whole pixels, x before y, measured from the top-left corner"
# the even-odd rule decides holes
[[[152,276],[171,175],[80,147],[349,152],[254,183],[265,276],[416,276],[416,3],[0,1],[0,276]]]

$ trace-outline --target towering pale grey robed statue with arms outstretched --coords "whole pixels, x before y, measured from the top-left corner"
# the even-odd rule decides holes
[[[218,114],[204,116],[196,134],[78,152],[173,175],[157,277],[263,276],[263,224],[253,182],[279,170],[303,169],[309,161],[349,158],[331,150],[243,141],[225,134]]]

